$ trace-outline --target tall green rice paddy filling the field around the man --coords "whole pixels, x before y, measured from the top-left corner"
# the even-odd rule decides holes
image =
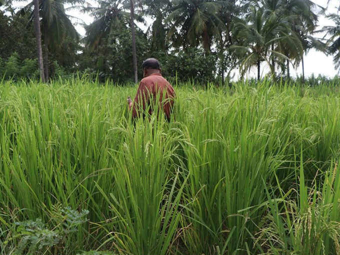
[[[0,254],[340,254],[338,84],[0,83]]]

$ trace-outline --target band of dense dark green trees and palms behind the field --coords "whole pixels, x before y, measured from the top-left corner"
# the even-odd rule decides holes
[[[64,74],[80,71],[98,75],[100,81],[131,81],[130,2],[39,0],[45,76],[55,76],[56,61]],[[27,1],[15,10],[10,3],[0,9],[0,57],[7,61],[17,52],[20,61],[31,61],[36,58],[33,3]],[[182,81],[224,83],[236,68],[241,74],[257,68],[259,79],[263,64],[273,78],[289,78],[289,68],[303,64],[303,54],[311,48],[334,55],[338,67],[339,16],[310,0],[135,0],[134,4],[138,66],[147,57],[157,57],[165,75]],[[64,6],[69,5],[94,19],[84,24],[83,38],[71,22],[79,20],[66,14]],[[329,39],[314,37],[321,16],[335,21],[322,29]]]

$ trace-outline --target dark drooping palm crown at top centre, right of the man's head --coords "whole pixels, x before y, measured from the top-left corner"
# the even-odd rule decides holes
[[[210,50],[212,38],[218,34],[219,9],[225,1],[211,0],[173,0],[173,7],[166,21],[170,23],[168,37],[172,38],[174,46],[203,44],[206,52]],[[179,29],[179,31],[177,31]]]

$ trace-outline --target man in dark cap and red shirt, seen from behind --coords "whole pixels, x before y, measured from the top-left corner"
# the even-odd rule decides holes
[[[160,74],[160,64],[155,58],[147,58],[142,63],[144,78],[140,81],[137,94],[132,101],[127,97],[128,108],[132,108],[132,117],[140,115],[142,111],[148,109],[152,114],[153,106],[159,103],[165,113],[166,119],[170,120],[171,109],[175,92],[170,83]]]

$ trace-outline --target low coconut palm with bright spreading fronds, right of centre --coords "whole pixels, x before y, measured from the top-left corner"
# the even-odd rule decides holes
[[[290,42],[294,42],[291,47],[299,47],[290,33],[288,24],[288,19],[278,16],[262,6],[250,6],[247,18],[236,24],[236,32],[241,40],[241,45],[231,47],[239,56],[242,76],[256,65],[257,79],[259,80],[260,64],[263,61],[270,67],[272,75],[275,75],[273,62],[281,65],[282,61],[288,58],[272,45],[283,40],[290,40]]]

